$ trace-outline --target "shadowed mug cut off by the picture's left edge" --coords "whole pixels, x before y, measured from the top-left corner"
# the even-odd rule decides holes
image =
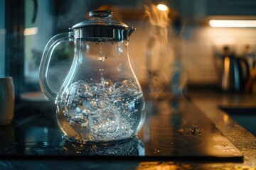
[[[14,81],[0,77],[0,125],[9,125],[14,118]]]

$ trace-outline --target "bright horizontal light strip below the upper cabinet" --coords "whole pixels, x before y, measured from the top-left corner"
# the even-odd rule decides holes
[[[214,28],[254,28],[256,27],[255,20],[210,20],[209,25]]]

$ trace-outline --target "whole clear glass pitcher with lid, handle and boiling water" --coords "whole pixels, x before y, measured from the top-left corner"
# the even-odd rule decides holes
[[[137,135],[145,102],[128,55],[135,30],[111,19],[111,11],[91,11],[90,19],[51,38],[39,67],[44,94],[55,101],[57,122],[71,142],[112,142]],[[74,42],[74,58],[59,91],[48,84],[48,67],[60,42]]]

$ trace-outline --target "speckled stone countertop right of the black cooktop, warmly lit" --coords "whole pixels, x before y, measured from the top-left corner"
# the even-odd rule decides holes
[[[223,93],[215,90],[189,91],[191,102],[205,113],[216,125],[220,132],[244,154],[243,163],[215,163],[207,164],[208,168],[216,169],[255,169],[256,168],[256,137],[248,132],[238,121],[233,120],[220,108],[240,109],[239,114],[256,115],[256,94],[233,94]],[[256,118],[256,116],[254,117]],[[255,120],[256,121],[256,120]],[[256,122],[255,122],[256,123]],[[256,128],[256,125],[254,125]]]

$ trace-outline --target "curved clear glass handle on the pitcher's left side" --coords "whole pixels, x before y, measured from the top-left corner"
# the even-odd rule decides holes
[[[55,35],[53,38],[51,38],[48,41],[43,51],[43,56],[39,66],[39,84],[43,93],[46,94],[46,96],[52,101],[55,101],[58,91],[57,92],[53,91],[53,89],[51,89],[48,84],[47,77],[48,77],[48,67],[50,64],[50,58],[52,57],[53,50],[57,45],[59,45],[61,42],[73,41],[73,40],[74,40],[73,32],[60,33],[58,35]]]

